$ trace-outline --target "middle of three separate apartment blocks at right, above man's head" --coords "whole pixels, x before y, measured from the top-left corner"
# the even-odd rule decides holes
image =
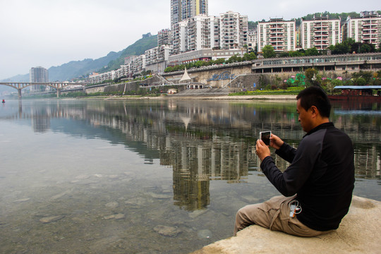
[[[324,50],[329,45],[341,42],[341,19],[315,17],[313,20],[301,20],[300,45],[302,49],[315,47],[317,50]]]

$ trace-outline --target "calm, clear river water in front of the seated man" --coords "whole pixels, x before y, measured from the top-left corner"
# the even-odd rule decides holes
[[[381,200],[380,104],[335,104],[331,120],[354,143],[354,194]],[[7,101],[0,130],[0,253],[198,250],[279,195],[259,132],[304,134],[294,101],[181,99]]]

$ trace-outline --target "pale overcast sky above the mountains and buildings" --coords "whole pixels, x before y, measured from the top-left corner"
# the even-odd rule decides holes
[[[236,11],[250,21],[380,9],[379,0],[209,0],[210,16]],[[169,27],[169,0],[0,0],[0,80],[97,59]]]

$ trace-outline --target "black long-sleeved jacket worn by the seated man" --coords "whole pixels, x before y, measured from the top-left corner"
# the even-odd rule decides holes
[[[284,173],[270,156],[260,167],[280,193],[297,194],[299,221],[317,231],[337,229],[351,205],[355,181],[348,135],[323,123],[303,137],[297,150],[284,143],[276,153],[291,163]]]

